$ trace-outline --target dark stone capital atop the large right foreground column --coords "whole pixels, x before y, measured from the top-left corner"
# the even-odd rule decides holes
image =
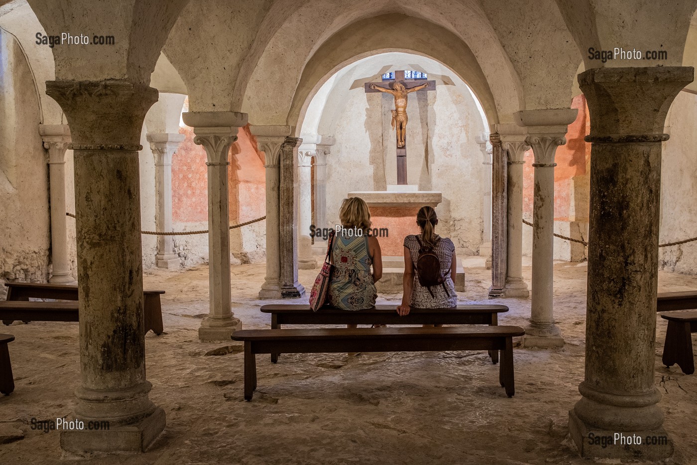
[[[691,66],[592,68],[579,74],[579,86],[592,114],[586,142],[661,142],[677,94],[692,82]],[[609,98],[608,98],[609,97]],[[618,118],[613,115],[634,115]]]

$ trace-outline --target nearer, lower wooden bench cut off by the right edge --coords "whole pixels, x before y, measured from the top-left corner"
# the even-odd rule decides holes
[[[697,332],[697,310],[666,311],[661,318],[668,320],[663,364],[672,367],[677,363],[684,374],[693,374],[695,364],[691,334]]]

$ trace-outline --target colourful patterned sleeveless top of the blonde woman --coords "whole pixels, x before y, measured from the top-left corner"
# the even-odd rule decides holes
[[[334,272],[329,285],[332,307],[343,310],[373,307],[378,295],[370,272],[372,260],[367,235],[343,237],[337,234],[332,259]]]

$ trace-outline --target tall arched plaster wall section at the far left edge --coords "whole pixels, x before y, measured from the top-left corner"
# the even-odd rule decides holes
[[[38,133],[38,95],[16,40],[0,29],[0,277],[49,275],[47,155]],[[0,297],[6,287],[0,286]]]

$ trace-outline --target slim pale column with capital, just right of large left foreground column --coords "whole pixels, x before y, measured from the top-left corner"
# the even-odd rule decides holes
[[[156,202],[155,228],[158,231],[172,229],[172,155],[184,140],[179,133],[149,133],[146,135],[150,149],[155,156],[155,192]],[[174,253],[174,238],[158,236],[158,254],[155,263],[159,268],[178,270],[181,260]]]

